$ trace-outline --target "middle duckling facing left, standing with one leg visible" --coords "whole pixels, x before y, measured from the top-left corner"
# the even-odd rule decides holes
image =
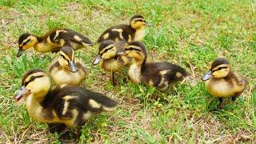
[[[110,80],[114,86],[117,85],[114,80],[114,73],[121,71],[123,66],[128,66],[130,64],[130,58],[119,55],[119,52],[122,52],[125,45],[126,42],[124,41],[103,41],[98,47],[98,55],[93,62],[94,65],[100,63],[103,70],[111,73]]]

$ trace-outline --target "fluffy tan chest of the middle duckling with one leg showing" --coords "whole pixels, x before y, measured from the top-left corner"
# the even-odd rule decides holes
[[[110,58],[110,59],[104,59],[100,63],[100,66],[103,70],[109,71],[109,72],[118,72],[122,69],[123,62],[119,58]]]

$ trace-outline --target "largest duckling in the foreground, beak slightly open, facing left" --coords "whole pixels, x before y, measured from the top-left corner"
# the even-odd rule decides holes
[[[117,102],[81,86],[50,90],[50,77],[43,70],[29,70],[22,77],[16,101],[27,97],[26,109],[35,121],[83,126],[94,114],[113,110]]]

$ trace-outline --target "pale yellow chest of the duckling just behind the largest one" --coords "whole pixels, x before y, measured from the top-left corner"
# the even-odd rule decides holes
[[[75,73],[72,73],[69,69],[54,70],[50,75],[57,85],[78,85],[86,77],[85,72],[80,69]]]

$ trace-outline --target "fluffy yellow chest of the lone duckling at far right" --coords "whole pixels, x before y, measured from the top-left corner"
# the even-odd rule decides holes
[[[205,83],[206,90],[214,97],[227,98],[237,93],[237,90],[234,90],[234,86],[231,86],[230,83],[226,82],[223,78],[211,78]]]

